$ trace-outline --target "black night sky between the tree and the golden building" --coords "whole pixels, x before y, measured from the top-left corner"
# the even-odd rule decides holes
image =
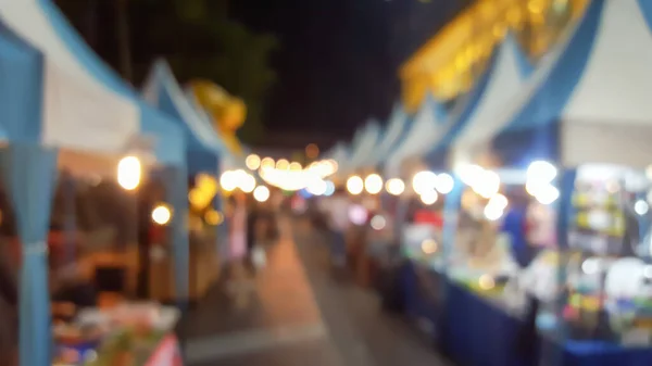
[[[469,2],[424,1],[233,1],[231,17],[280,40],[265,126],[346,138],[368,117],[385,122],[400,64]]]

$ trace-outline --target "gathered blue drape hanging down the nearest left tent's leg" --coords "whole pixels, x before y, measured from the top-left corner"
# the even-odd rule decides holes
[[[12,143],[2,152],[3,177],[16,215],[23,265],[20,286],[20,362],[50,365],[48,229],[57,177],[57,152],[37,143]]]

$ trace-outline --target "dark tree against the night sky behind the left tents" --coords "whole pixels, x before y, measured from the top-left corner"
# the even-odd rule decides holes
[[[261,135],[269,67],[277,40],[228,17],[227,0],[58,0],[57,3],[104,61],[140,85],[156,58],[168,60],[181,83],[215,81],[244,100],[248,141]],[[117,67],[116,67],[117,66]]]

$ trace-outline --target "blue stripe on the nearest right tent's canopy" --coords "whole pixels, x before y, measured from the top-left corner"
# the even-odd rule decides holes
[[[582,77],[602,18],[604,0],[592,1],[548,78],[493,141],[501,157],[559,156],[559,118]],[[529,131],[529,132],[528,132]],[[516,134],[516,135],[514,135]],[[524,134],[525,136],[518,136]],[[526,139],[528,142],[523,141]]]

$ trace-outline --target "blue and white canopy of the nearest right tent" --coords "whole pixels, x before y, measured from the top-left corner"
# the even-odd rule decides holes
[[[485,141],[503,165],[546,159],[647,167],[652,156],[652,3],[593,0]],[[489,151],[487,151],[489,150]]]

